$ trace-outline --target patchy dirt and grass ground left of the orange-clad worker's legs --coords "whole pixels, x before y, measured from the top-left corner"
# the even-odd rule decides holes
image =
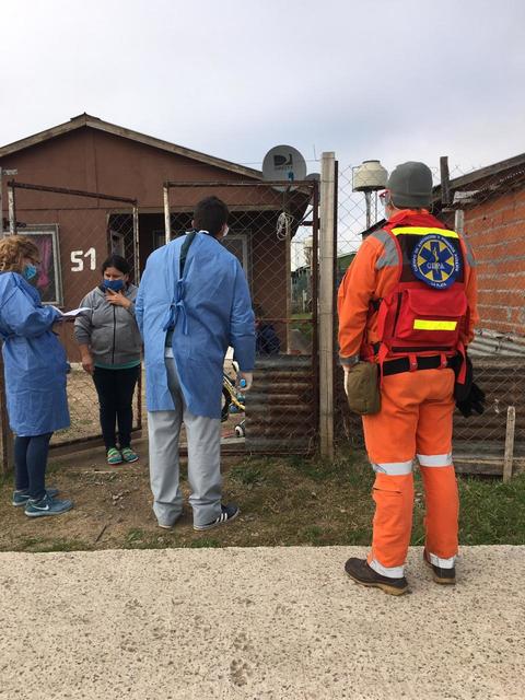
[[[136,448],[141,458],[132,465],[109,467],[102,447],[51,460],[47,485],[75,504],[60,517],[25,516],[10,504],[12,483],[5,479],[0,485],[0,550],[365,544],[370,537],[373,476],[361,453],[328,468],[304,457],[225,457],[224,501],[238,503],[242,514],[224,527],[196,533],[187,503],[173,530],[159,528],[151,510],[147,441]]]

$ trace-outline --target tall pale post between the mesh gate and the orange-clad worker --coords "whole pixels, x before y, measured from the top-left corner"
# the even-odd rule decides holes
[[[334,245],[336,155],[323,153],[319,236],[319,443],[322,457],[334,458]]]

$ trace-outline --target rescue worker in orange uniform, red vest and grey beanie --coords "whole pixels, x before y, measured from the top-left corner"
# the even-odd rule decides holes
[[[384,228],[362,244],[338,293],[340,362],[378,365],[381,409],[363,416],[375,471],[372,548],[349,559],[355,582],[401,595],[417,457],[425,492],[424,560],[434,581],[455,583],[458,493],[452,462],[456,375],[477,322],[475,260],[466,240],[429,212],[432,174],[398,165],[387,182]],[[462,382],[459,371],[458,381]]]

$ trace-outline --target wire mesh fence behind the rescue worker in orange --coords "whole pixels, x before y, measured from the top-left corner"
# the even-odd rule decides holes
[[[482,168],[434,168],[433,213],[464,233],[474,250],[479,323],[469,348],[475,380],[487,394],[482,416],[454,420],[456,462],[466,470],[501,472],[513,442],[525,458],[525,156]],[[384,223],[377,188],[355,191],[355,167],[339,167],[338,282],[363,238]],[[337,362],[337,360],[336,360]],[[342,372],[336,376],[336,429],[340,440],[362,444],[361,423],[349,413]],[[515,411],[515,433],[509,417]],[[511,421],[512,422],[512,421]]]

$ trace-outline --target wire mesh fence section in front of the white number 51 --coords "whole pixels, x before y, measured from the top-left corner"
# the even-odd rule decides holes
[[[138,270],[138,211],[135,200],[59,187],[10,182],[4,235],[31,236],[40,253],[35,280],[44,304],[68,311],[101,283],[101,266],[109,253],[121,255]],[[7,230],[5,230],[7,229]],[[92,377],[82,369],[72,324],[55,326],[71,371],[68,401],[71,425],[58,431],[52,446],[75,445],[102,436],[98,400]],[[141,427],[141,381],[133,399],[133,430]]]

